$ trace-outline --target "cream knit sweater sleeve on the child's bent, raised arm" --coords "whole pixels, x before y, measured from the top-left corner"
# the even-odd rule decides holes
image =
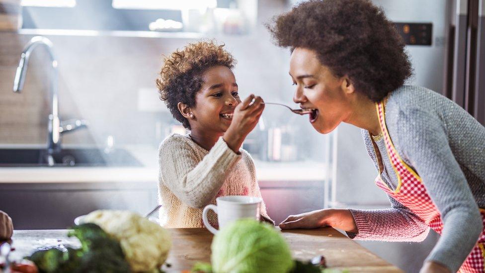
[[[182,136],[173,136],[159,150],[163,183],[185,204],[203,208],[217,195],[232,168],[241,159],[221,137],[200,161]]]

